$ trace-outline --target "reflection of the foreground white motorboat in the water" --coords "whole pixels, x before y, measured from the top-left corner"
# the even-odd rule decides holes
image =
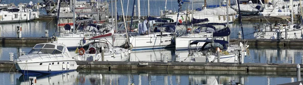
[[[75,84],[78,72],[70,71],[65,73],[47,74],[36,76],[35,84]],[[30,85],[29,76],[21,75],[17,78],[17,85]]]

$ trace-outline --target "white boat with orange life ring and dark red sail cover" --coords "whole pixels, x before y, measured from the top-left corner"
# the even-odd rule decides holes
[[[106,41],[93,41],[88,49],[77,49],[73,56],[77,60],[102,61],[102,49],[104,48],[104,61],[127,61],[130,50],[121,47],[112,47]]]

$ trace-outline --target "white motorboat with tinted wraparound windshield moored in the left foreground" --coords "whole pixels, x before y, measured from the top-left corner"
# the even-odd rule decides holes
[[[14,64],[24,75],[61,73],[76,70],[78,65],[67,47],[59,43],[38,43]]]

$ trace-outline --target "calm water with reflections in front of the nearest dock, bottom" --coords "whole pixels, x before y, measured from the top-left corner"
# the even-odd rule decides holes
[[[28,84],[27,76],[8,69],[1,69],[0,84]],[[37,84],[281,84],[296,81],[295,72],[213,71],[213,70],[111,70],[106,69],[76,71],[40,75]],[[101,78],[101,79],[100,79]]]

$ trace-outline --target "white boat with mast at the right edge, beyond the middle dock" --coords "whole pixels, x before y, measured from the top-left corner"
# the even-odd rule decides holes
[[[292,3],[292,0],[290,0]],[[293,11],[293,8],[291,8]],[[294,12],[290,12],[293,16]],[[295,24],[293,17],[287,15],[277,15],[272,17],[278,17],[284,19],[287,23],[282,24],[277,21],[275,24],[266,23],[264,27],[255,26],[254,37],[264,39],[289,39],[289,38],[302,38],[303,26],[301,24]],[[271,18],[271,17],[270,17]],[[291,18],[291,21],[288,20]]]

